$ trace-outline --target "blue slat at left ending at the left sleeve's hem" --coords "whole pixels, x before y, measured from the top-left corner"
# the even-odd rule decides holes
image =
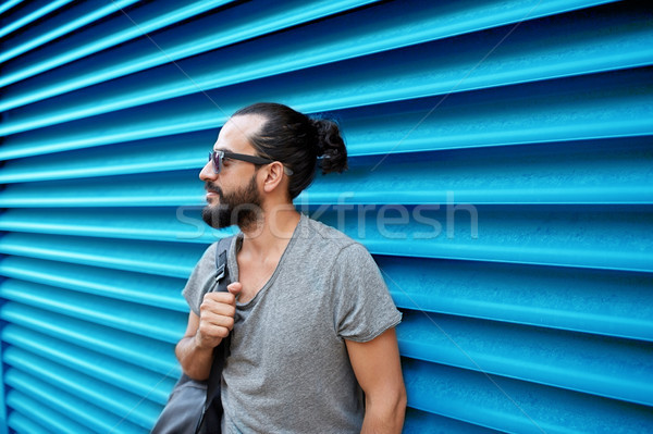
[[[181,296],[185,282],[177,278],[22,257],[3,258],[0,275],[163,309],[188,309]]]

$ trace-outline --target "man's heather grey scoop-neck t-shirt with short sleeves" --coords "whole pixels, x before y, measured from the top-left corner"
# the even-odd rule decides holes
[[[235,237],[229,250],[233,282],[241,244]],[[184,288],[197,314],[213,286],[214,259],[213,245]],[[362,393],[344,339],[371,340],[401,320],[366,248],[303,215],[268,283],[236,303],[222,372],[223,432],[359,432]]]

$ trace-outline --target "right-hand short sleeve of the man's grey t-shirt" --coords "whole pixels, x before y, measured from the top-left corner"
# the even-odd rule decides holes
[[[368,342],[402,321],[379,266],[362,245],[345,247],[333,273],[340,337]]]

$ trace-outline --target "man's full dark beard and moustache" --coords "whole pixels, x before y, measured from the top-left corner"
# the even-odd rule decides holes
[[[207,182],[207,190],[215,191],[220,203],[208,204],[201,211],[206,224],[217,230],[238,225],[241,231],[252,230],[261,219],[261,195],[252,176],[245,187],[234,193],[224,194],[222,189]]]

